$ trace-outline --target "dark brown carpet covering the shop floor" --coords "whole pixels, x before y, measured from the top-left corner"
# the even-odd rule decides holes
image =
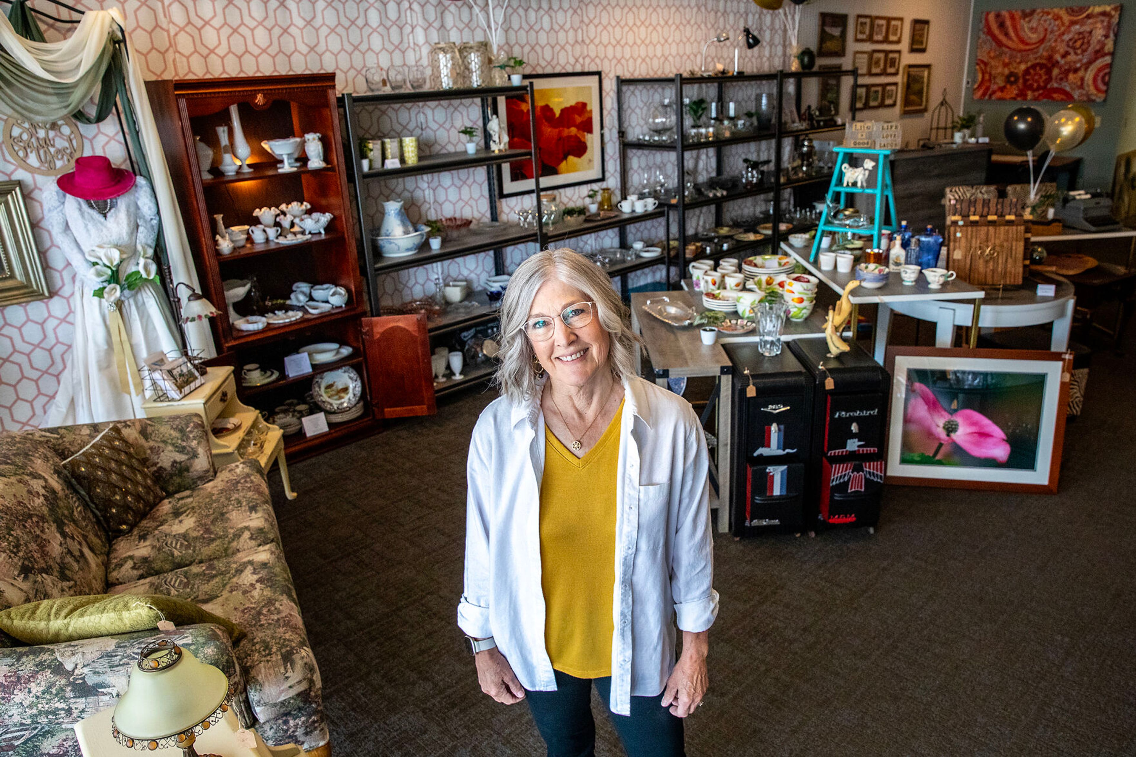
[[[717,537],[687,751],[1136,754],[1134,361],[1094,356],[1061,493],[889,487],[875,536]],[[488,394],[274,482],[335,754],[542,755],[463,651],[465,460]],[[621,749],[595,701],[600,755]]]

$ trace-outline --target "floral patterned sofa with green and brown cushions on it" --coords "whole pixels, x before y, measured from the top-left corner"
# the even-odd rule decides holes
[[[270,745],[329,751],[319,670],[253,461],[214,469],[197,415],[118,423],[167,498],[109,539],[60,461],[109,423],[0,434],[0,609],[60,596],[164,594],[237,623],[168,632],[243,692],[242,724]],[[72,726],[126,690],[131,663],[160,632],[26,646],[0,632],[0,752],[78,756]]]

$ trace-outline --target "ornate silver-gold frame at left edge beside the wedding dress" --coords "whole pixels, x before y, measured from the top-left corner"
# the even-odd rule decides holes
[[[19,182],[0,182],[0,308],[51,296]]]

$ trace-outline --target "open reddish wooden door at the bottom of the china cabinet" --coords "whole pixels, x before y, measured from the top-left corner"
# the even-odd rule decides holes
[[[364,318],[362,340],[370,399],[379,418],[437,412],[425,313]]]

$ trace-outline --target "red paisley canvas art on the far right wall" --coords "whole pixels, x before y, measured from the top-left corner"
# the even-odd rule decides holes
[[[983,14],[976,100],[1101,102],[1120,5]]]

